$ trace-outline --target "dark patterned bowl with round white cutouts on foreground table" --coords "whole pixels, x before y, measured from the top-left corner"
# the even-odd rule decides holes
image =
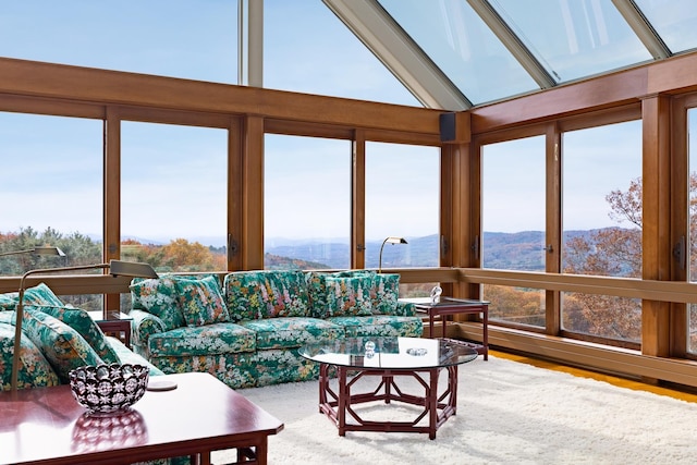
[[[143,397],[148,375],[142,365],[85,366],[70,372],[70,387],[89,414],[120,413]]]

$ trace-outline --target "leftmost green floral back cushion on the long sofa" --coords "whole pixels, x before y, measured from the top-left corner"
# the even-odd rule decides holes
[[[131,281],[131,306],[145,310],[162,320],[167,330],[184,326],[184,317],[176,305],[174,279],[134,278]]]

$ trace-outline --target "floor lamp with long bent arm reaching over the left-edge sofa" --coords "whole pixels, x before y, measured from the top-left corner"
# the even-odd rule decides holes
[[[155,272],[152,267],[148,264],[136,264],[133,261],[120,261],[120,260],[111,260],[108,264],[98,264],[98,265],[83,265],[75,267],[63,267],[63,268],[48,268],[48,269],[36,269],[29,270],[22,276],[20,280],[20,296],[17,302],[17,307],[15,310],[15,321],[14,321],[14,352],[12,354],[12,379],[11,379],[11,390],[15,392],[17,390],[17,378],[20,376],[20,348],[22,341],[22,320],[24,319],[24,281],[30,274],[46,274],[53,273],[58,271],[77,271],[77,270],[94,270],[94,269],[109,269],[111,276],[114,277],[134,277],[134,278],[159,278]]]

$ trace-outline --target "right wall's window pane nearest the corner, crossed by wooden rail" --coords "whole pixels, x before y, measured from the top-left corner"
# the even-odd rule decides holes
[[[545,137],[481,148],[482,268],[545,270]],[[521,173],[525,176],[521,176]],[[484,285],[489,318],[545,327],[540,290]]]

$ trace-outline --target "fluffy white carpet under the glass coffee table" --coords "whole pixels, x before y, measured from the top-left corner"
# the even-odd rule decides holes
[[[317,381],[239,392],[285,425],[269,438],[270,464],[697,463],[695,403],[491,356],[462,365],[458,378],[457,415],[432,441],[425,433],[340,437],[318,412]],[[362,412],[408,420],[413,408]],[[213,463],[232,457],[218,452]]]

